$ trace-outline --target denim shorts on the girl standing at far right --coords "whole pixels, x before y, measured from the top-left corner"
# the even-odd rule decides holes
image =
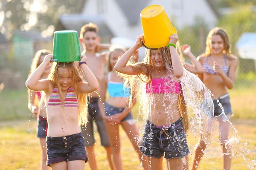
[[[221,103],[224,112],[228,119],[230,119],[231,115],[233,114],[231,110],[231,104],[230,104],[230,96],[229,94],[224,94],[218,98],[219,102]],[[213,100],[214,104],[214,116],[220,116],[222,113],[221,107],[218,105],[217,99]]]

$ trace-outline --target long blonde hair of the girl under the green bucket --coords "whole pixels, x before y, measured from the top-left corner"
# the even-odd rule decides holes
[[[60,83],[58,81],[58,68],[67,68],[68,71],[72,72],[72,87],[76,93],[76,97],[78,100],[78,105],[79,105],[79,125],[85,125],[87,123],[87,94],[81,93],[78,95],[78,82],[83,81],[81,70],[78,69],[77,65],[74,62],[54,62],[52,64],[52,68],[50,71],[50,74],[48,76],[48,79],[52,82],[53,87],[58,88],[58,95],[60,96],[61,102],[62,102],[62,107],[64,103],[64,96],[62,95],[61,92],[61,87]],[[43,95],[42,95],[43,97]],[[44,94],[44,99],[45,94]],[[47,102],[45,102],[47,103]],[[64,116],[65,117],[65,116]]]

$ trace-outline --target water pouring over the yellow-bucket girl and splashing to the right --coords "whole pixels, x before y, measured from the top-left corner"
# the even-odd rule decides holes
[[[156,56],[156,53],[153,53]],[[218,106],[221,108],[222,113],[220,116],[214,116],[214,109],[212,96],[213,94],[205,87],[204,83],[195,75],[187,71],[183,68],[183,76],[179,79],[173,76],[173,68],[172,65],[168,65],[170,59],[164,58],[164,63],[166,66],[166,71],[161,72],[155,71],[152,72],[151,75],[157,79],[163,79],[161,88],[165,87],[164,91],[168,91],[169,88],[175,89],[174,81],[180,82],[180,93],[183,94],[183,99],[180,98],[180,101],[186,105],[186,110],[181,113],[183,117],[183,126],[184,126],[184,116],[189,117],[189,135],[195,136],[198,138],[201,136],[202,140],[205,142],[206,146],[211,144],[212,142],[217,142],[218,144],[225,144],[225,147],[228,153],[220,153],[220,155],[230,155],[230,157],[241,156],[244,158],[243,164],[247,164],[248,168],[252,170],[254,165],[256,165],[255,159],[246,159],[245,154],[249,154],[251,158],[253,156],[250,153],[250,150],[244,147],[240,147],[242,143],[241,139],[237,136],[237,130],[227,116],[224,113],[224,108],[221,103],[217,100]],[[143,75],[141,76],[143,78]],[[145,77],[144,77],[145,78]],[[139,117],[143,118],[144,127],[141,128],[141,136],[138,138],[138,144],[141,147],[142,151],[148,150],[148,153],[154,153],[154,148],[152,147],[152,141],[155,137],[158,139],[168,140],[171,142],[168,145],[169,147],[178,147],[178,152],[180,155],[185,156],[186,152],[186,140],[185,136],[177,135],[177,130],[175,130],[175,121],[177,121],[177,113],[181,111],[178,105],[178,97],[179,94],[175,93],[147,93],[146,86],[148,88],[153,88],[152,82],[145,83],[141,81],[137,76],[125,77],[125,86],[131,88],[130,85],[135,85],[137,90],[137,102],[139,103],[139,115],[137,117],[137,122]],[[168,89],[167,89],[168,88]],[[163,89],[155,89],[156,91],[161,91]],[[165,111],[164,113],[160,111]],[[159,117],[161,119],[159,119]],[[150,122],[148,125],[147,120]],[[163,122],[163,120],[165,120]],[[165,133],[156,134],[153,133],[152,127],[155,125],[172,125],[168,126],[171,128],[172,133],[169,133],[166,136]],[[154,127],[153,127],[154,128]],[[157,136],[155,136],[157,135]],[[188,134],[186,134],[187,136]],[[143,140],[144,139],[144,140]],[[146,141],[149,144],[149,147],[143,146],[143,141]],[[244,144],[246,145],[246,144]],[[216,156],[218,154],[209,153],[203,150],[207,157]],[[184,164],[186,164],[186,160],[184,157],[182,158]]]

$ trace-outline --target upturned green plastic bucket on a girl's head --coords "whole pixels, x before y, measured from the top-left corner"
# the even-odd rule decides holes
[[[53,36],[53,59],[56,62],[79,61],[81,56],[77,31],[55,31]]]

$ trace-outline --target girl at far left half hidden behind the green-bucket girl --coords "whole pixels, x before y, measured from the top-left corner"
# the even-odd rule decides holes
[[[48,50],[39,50],[35,53],[35,57],[31,64],[30,74],[32,74],[36,68],[38,68],[39,65],[44,61],[44,57],[47,54],[51,54]],[[51,64],[47,65],[46,69],[44,70],[44,73],[40,77],[40,79],[46,79],[49,75]],[[29,74],[29,75],[30,75]],[[44,102],[41,101],[41,92],[35,92],[28,90],[28,99],[29,99],[29,109],[33,113],[33,115],[37,118],[37,137],[39,138],[41,150],[42,150],[42,157],[41,157],[41,167],[42,170],[49,170],[50,168],[47,167],[46,161],[47,161],[47,150],[46,150],[46,136],[47,136],[47,114],[46,114],[46,107],[44,106]]]

